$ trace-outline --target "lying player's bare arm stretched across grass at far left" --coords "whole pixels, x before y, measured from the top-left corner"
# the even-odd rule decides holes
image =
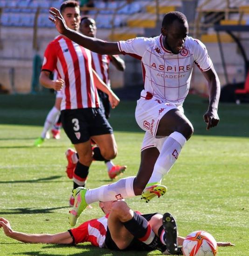
[[[68,231],[58,234],[26,234],[14,231],[7,219],[0,218],[0,228],[3,228],[4,234],[17,241],[26,243],[58,243],[70,244],[73,242]]]

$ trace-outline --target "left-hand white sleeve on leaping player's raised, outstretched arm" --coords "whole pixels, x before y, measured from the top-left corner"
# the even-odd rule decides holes
[[[118,49],[122,54],[135,54],[142,58],[146,49],[153,44],[153,38],[136,37],[127,41],[119,41]]]

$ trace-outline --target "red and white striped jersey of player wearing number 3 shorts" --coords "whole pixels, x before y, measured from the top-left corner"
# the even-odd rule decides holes
[[[89,50],[67,37],[58,36],[47,46],[42,70],[56,70],[65,81],[61,110],[99,107]]]

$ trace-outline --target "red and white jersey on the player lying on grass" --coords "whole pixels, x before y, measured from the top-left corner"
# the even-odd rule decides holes
[[[103,248],[107,231],[107,218],[108,215],[99,219],[91,219],[79,227],[70,229],[75,243],[90,242],[94,246]]]

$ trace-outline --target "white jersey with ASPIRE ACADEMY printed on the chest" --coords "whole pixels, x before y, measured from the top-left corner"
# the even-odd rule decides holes
[[[119,41],[118,48],[123,54],[141,59],[145,83],[141,96],[146,97],[149,93],[164,102],[181,106],[189,91],[194,63],[202,71],[209,70],[213,64],[201,41],[187,37],[180,53],[173,54],[165,49],[162,38],[160,35]]]

